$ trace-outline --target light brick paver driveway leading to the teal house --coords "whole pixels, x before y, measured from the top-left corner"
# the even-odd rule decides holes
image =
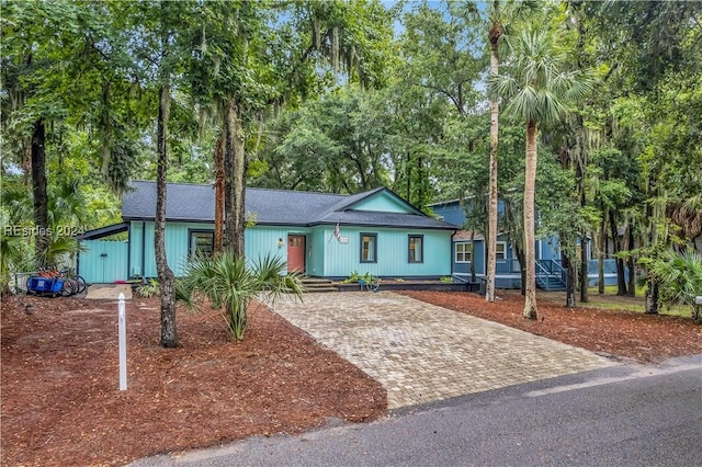
[[[305,294],[274,310],[380,381],[390,409],[612,364],[390,292]]]

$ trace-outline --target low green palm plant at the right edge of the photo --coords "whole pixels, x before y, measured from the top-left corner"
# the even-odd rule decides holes
[[[695,297],[702,296],[702,255],[691,248],[682,252],[668,251],[654,260],[648,276],[658,284],[664,303],[679,303],[692,307],[692,318],[702,322],[702,310]]]

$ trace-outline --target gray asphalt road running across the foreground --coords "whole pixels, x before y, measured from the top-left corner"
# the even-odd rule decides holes
[[[702,466],[702,355],[331,421],[134,466]]]

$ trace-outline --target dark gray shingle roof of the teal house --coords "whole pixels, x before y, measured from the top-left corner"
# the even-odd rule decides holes
[[[132,182],[123,196],[124,220],[149,220],[156,213],[156,182]],[[353,206],[381,192],[390,193],[407,206],[408,214],[354,210]],[[167,220],[214,221],[215,191],[212,185],[169,183]],[[451,224],[422,214],[387,189],[375,189],[355,195],[296,192],[287,190],[247,189],[246,212],[256,213],[260,225],[358,225],[454,230]]]

